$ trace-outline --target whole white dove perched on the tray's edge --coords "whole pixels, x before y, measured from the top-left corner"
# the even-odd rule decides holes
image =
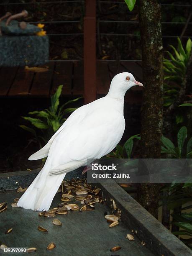
[[[49,210],[67,172],[85,166],[87,159],[100,159],[117,146],[125,130],[124,95],[135,85],[143,86],[131,73],[117,74],[105,97],[75,110],[48,143],[29,157],[47,159],[18,201],[19,207]]]

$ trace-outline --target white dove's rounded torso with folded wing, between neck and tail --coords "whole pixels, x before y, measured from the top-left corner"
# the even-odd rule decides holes
[[[73,160],[100,158],[123,136],[123,104],[103,97],[74,111],[60,129],[49,150],[47,164],[51,169]]]

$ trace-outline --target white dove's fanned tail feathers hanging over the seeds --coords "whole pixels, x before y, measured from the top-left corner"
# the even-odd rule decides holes
[[[45,167],[45,166],[44,166]],[[17,205],[25,209],[36,211],[49,210],[51,202],[56,194],[65,174],[48,176],[44,168],[20,197]]]

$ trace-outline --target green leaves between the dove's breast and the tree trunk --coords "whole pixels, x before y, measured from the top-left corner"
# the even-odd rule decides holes
[[[128,138],[123,146],[117,145],[116,148],[107,155],[107,157],[116,157],[116,158],[131,158],[132,150],[133,150],[133,140],[134,138],[141,140],[140,134],[136,134]]]

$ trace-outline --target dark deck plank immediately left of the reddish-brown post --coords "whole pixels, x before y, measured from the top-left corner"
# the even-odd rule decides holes
[[[73,95],[84,94],[83,62],[74,62]],[[91,86],[91,85],[90,85]]]

